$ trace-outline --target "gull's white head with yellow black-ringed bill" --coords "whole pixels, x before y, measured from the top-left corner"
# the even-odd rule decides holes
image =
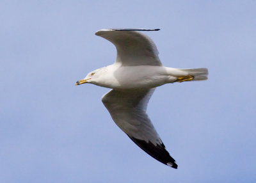
[[[84,83],[92,83],[97,84],[99,81],[99,77],[102,76],[102,73],[104,73],[104,67],[98,68],[96,70],[93,70],[92,72],[89,72],[84,79],[81,79],[76,82],[76,85],[84,84]]]

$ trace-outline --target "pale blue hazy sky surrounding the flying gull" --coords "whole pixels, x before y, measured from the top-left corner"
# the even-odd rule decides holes
[[[0,1],[0,182],[255,182],[256,1]],[[115,61],[103,28],[147,32],[166,67],[148,115],[177,170],[138,148],[75,86]]]

